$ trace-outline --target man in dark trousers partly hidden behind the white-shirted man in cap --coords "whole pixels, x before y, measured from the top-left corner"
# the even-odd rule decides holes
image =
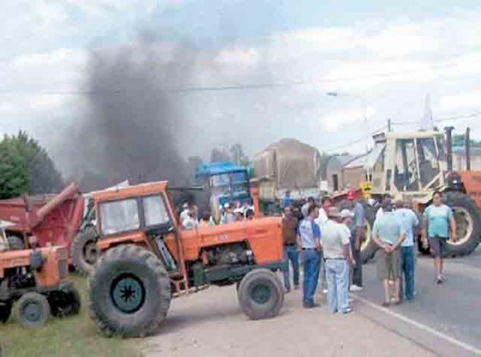
[[[361,262],[361,238],[364,234],[364,206],[360,201],[355,200],[354,191],[347,194],[349,201],[349,211],[354,213],[351,225],[351,249],[354,258],[352,267],[352,285],[350,291],[362,291],[362,262]]]

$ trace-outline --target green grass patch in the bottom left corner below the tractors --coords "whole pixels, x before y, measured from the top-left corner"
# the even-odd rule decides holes
[[[140,356],[139,340],[107,338],[98,332],[88,317],[86,279],[71,274],[69,279],[79,289],[82,307],[79,315],[63,319],[51,317],[45,327],[25,329],[12,316],[0,323],[1,357],[42,356]]]

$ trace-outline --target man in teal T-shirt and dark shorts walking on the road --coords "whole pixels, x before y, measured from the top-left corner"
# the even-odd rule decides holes
[[[453,210],[441,201],[441,192],[433,194],[433,204],[424,211],[424,230],[422,233],[423,244],[427,245],[426,237],[429,237],[429,249],[434,257],[434,269],[436,269],[436,283],[443,283],[443,252],[446,240],[451,238],[456,242],[456,221]],[[451,230],[449,229],[451,228]]]

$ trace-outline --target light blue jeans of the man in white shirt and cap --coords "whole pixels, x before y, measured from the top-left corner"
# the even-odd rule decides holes
[[[328,281],[328,307],[331,313],[349,308],[349,264],[343,259],[325,261],[325,279]]]

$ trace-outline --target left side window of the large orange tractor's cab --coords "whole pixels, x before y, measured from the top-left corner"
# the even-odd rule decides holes
[[[123,199],[100,204],[100,223],[105,235],[139,229],[137,200]]]

